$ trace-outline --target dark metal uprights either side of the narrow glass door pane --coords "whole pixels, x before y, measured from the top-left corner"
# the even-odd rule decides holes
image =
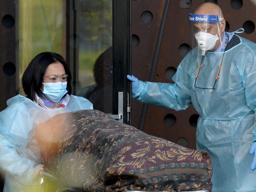
[[[72,68],[73,79],[76,80],[78,68],[78,49],[76,39],[70,39],[76,28],[76,0],[67,3],[67,53],[66,60]],[[131,71],[131,0],[113,0],[113,114],[121,115],[121,122],[131,124],[130,116],[130,82],[126,75]],[[70,44],[74,46],[70,46]],[[73,87],[73,90],[75,88]],[[73,92],[75,94],[75,92]],[[122,101],[121,101],[122,100]],[[120,106],[122,105],[122,106]],[[121,113],[122,111],[122,113]]]

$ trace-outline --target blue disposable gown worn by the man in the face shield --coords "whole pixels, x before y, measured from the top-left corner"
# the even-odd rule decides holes
[[[256,172],[249,173],[249,149],[256,139],[256,44],[239,39],[224,57],[223,52],[204,56],[196,86],[205,88],[213,87],[223,57],[215,90],[194,87],[202,56],[192,50],[178,66],[174,84],[139,81],[133,94],[140,102],[176,111],[193,104],[200,114],[197,150],[208,151],[212,159],[213,192],[256,192]]]

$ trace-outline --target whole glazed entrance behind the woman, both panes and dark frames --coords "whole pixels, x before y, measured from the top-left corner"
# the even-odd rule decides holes
[[[56,52],[72,73],[72,94],[130,124],[130,1],[19,1],[19,73],[40,52]],[[121,116],[120,116],[121,115]]]

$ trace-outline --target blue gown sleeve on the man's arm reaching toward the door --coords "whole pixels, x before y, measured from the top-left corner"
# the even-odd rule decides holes
[[[176,83],[171,84],[139,81],[139,91],[132,95],[133,98],[139,102],[159,105],[176,111],[184,110],[189,107],[189,105],[191,105],[189,76],[183,69],[186,60],[187,58],[185,57],[173,76],[173,81]]]

